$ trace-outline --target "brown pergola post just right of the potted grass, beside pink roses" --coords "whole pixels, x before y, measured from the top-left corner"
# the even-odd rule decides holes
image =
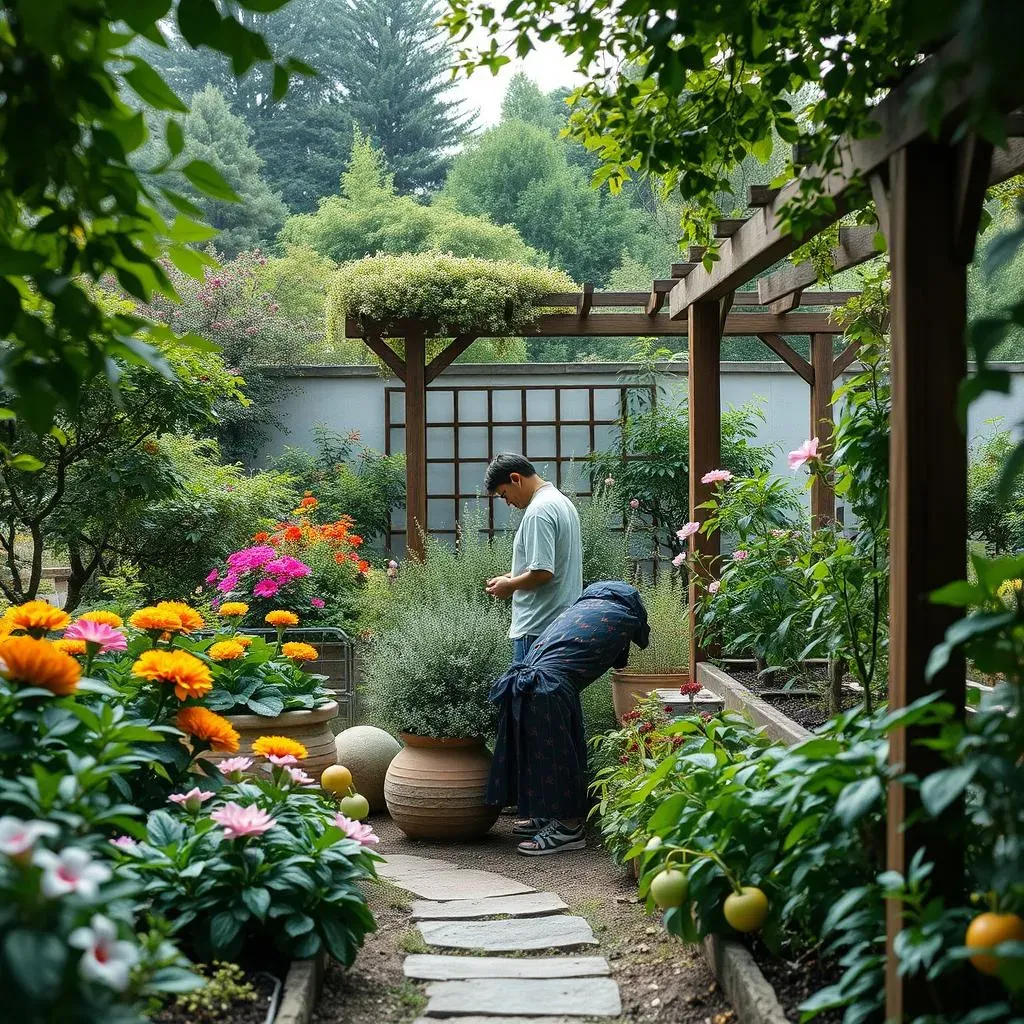
[[[698,520],[702,514],[697,511],[697,506],[708,501],[714,493],[714,485],[701,483],[700,478],[713,469],[720,469],[722,460],[722,309],[720,303],[717,301],[695,302],[690,306],[688,322],[690,518]],[[721,543],[717,532],[712,537],[694,534],[690,538],[691,556],[698,555],[701,560],[710,562],[717,559],[720,553]],[[711,571],[717,574],[718,566],[715,565]],[[689,670],[691,680],[696,680],[697,663],[706,660],[708,653],[697,646],[697,573],[691,572],[689,593]]]

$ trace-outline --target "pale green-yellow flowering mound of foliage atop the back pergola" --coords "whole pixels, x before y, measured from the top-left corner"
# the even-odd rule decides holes
[[[328,298],[328,331],[344,333],[344,318],[415,318],[431,334],[515,335],[541,312],[538,300],[575,289],[557,270],[504,260],[444,255],[368,256],[339,269]]]

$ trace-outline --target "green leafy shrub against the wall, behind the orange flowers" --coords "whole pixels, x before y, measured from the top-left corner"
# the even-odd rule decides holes
[[[404,453],[382,455],[325,424],[313,427],[313,451],[286,445],[272,468],[315,493],[321,521],[349,515],[368,544],[383,545],[391,512],[406,505]]]

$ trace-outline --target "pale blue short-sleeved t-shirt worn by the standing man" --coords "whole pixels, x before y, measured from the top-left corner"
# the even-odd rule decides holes
[[[542,484],[516,530],[512,575],[547,569],[554,578],[512,595],[509,636],[538,636],[583,593],[583,540],[575,506],[553,483]]]

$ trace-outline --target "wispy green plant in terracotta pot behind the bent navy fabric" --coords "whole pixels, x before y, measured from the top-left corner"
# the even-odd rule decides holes
[[[634,585],[647,609],[650,642],[644,650],[631,648],[629,665],[611,674],[611,699],[620,722],[638,697],[652,690],[678,691],[690,678],[685,584],[676,572],[663,570],[656,580],[641,578]]]

